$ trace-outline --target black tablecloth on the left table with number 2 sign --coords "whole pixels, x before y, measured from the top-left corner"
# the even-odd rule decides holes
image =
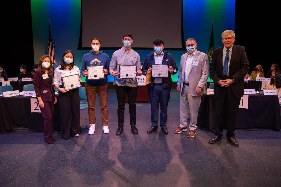
[[[31,113],[30,98],[32,97],[0,97],[0,134],[21,126],[44,132],[43,116],[41,113]],[[57,104],[54,109],[54,131],[60,131]]]

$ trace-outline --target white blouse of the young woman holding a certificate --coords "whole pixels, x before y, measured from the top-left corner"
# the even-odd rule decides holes
[[[58,67],[56,67],[55,71],[54,71],[54,82],[53,85],[58,84],[58,85],[62,85],[62,77],[65,76],[69,76],[69,75],[75,75],[75,74],[79,74],[80,77],[80,70],[77,66],[74,66],[73,69],[69,70],[61,70],[59,69],[60,65]]]

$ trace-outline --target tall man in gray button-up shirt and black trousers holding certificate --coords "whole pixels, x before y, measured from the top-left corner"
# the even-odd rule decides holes
[[[118,75],[120,73],[118,71],[119,65],[134,65],[137,66],[137,71],[135,73],[138,76],[141,76],[142,71],[140,70],[140,55],[131,48],[131,45],[133,43],[132,34],[124,34],[122,42],[124,43],[124,46],[113,53],[109,65],[109,72],[112,76],[114,76],[114,85],[116,85],[116,95],[118,100],[118,129],[116,131],[116,135],[120,135],[123,133],[126,94],[128,96],[128,104],[130,110],[131,131],[134,134],[138,134],[137,127],[135,127],[135,125],[137,124],[136,99],[138,81],[137,79],[119,78]]]

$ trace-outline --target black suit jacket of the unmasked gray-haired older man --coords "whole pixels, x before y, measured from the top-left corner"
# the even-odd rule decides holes
[[[245,47],[233,45],[228,70],[228,79],[234,79],[235,81],[230,87],[237,98],[241,98],[244,95],[244,76],[248,73],[249,69],[249,61],[246,56]],[[217,84],[217,82],[223,79],[223,47],[216,48],[213,51],[212,62],[210,64],[210,75],[215,83],[214,97],[216,99],[221,90],[221,85]]]

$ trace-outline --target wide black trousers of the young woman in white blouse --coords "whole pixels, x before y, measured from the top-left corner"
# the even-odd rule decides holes
[[[80,134],[80,96],[79,89],[58,92],[58,111],[61,135],[64,139]]]

